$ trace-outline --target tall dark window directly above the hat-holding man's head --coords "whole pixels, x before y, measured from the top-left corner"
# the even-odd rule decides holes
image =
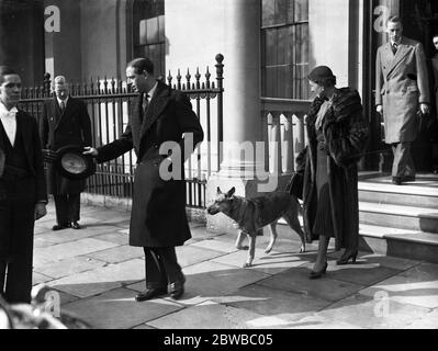
[[[136,0],[133,16],[134,56],[149,57],[155,73],[165,77],[165,0]]]

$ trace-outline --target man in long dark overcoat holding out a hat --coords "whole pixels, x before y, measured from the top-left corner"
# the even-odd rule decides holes
[[[89,148],[85,154],[97,156],[98,162],[103,162],[134,148],[137,167],[130,245],[143,247],[146,261],[146,291],[136,299],[165,295],[168,290],[177,299],[183,294],[186,279],[175,247],[191,238],[186,215],[183,165],[195,145],[202,141],[203,131],[187,95],[157,81],[148,58],[131,61],[126,78],[138,97],[132,105],[125,132],[113,143],[98,149]],[[164,155],[161,148],[169,151]],[[169,179],[169,170],[178,174]]]

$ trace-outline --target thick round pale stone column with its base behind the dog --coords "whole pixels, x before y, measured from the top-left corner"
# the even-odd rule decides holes
[[[268,183],[268,179],[262,179],[268,177],[262,173],[265,147],[260,144],[257,146],[257,141],[262,141],[260,1],[224,2],[224,144],[221,170],[209,179],[207,204],[215,199],[217,186],[223,192],[235,186],[236,195],[248,197],[263,191],[265,186],[260,188],[260,184]],[[222,214],[209,215],[207,228],[236,233],[233,222]]]

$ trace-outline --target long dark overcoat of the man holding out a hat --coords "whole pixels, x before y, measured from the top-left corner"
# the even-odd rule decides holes
[[[165,180],[160,167],[167,155],[159,149],[166,141],[184,147],[191,134],[193,144],[202,141],[203,132],[189,99],[159,82],[143,118],[143,95],[133,104],[128,125],[115,141],[99,148],[98,161],[114,159],[134,148],[137,168],[134,176],[134,197],[131,213],[130,245],[138,247],[181,246],[191,238],[186,215],[186,182],[183,159],[190,156],[173,152],[175,166],[181,165],[180,179]],[[143,118],[143,123],[142,123]],[[192,144],[192,143],[188,143]],[[182,159],[183,158],[183,159]],[[166,168],[166,167],[165,167]]]

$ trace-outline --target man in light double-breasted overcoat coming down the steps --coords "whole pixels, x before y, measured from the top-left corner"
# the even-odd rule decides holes
[[[388,20],[390,41],[379,47],[375,63],[375,105],[383,115],[385,143],[392,146],[392,182],[415,181],[412,143],[418,134],[418,113],[429,112],[429,88],[423,45],[402,36],[397,16]]]

